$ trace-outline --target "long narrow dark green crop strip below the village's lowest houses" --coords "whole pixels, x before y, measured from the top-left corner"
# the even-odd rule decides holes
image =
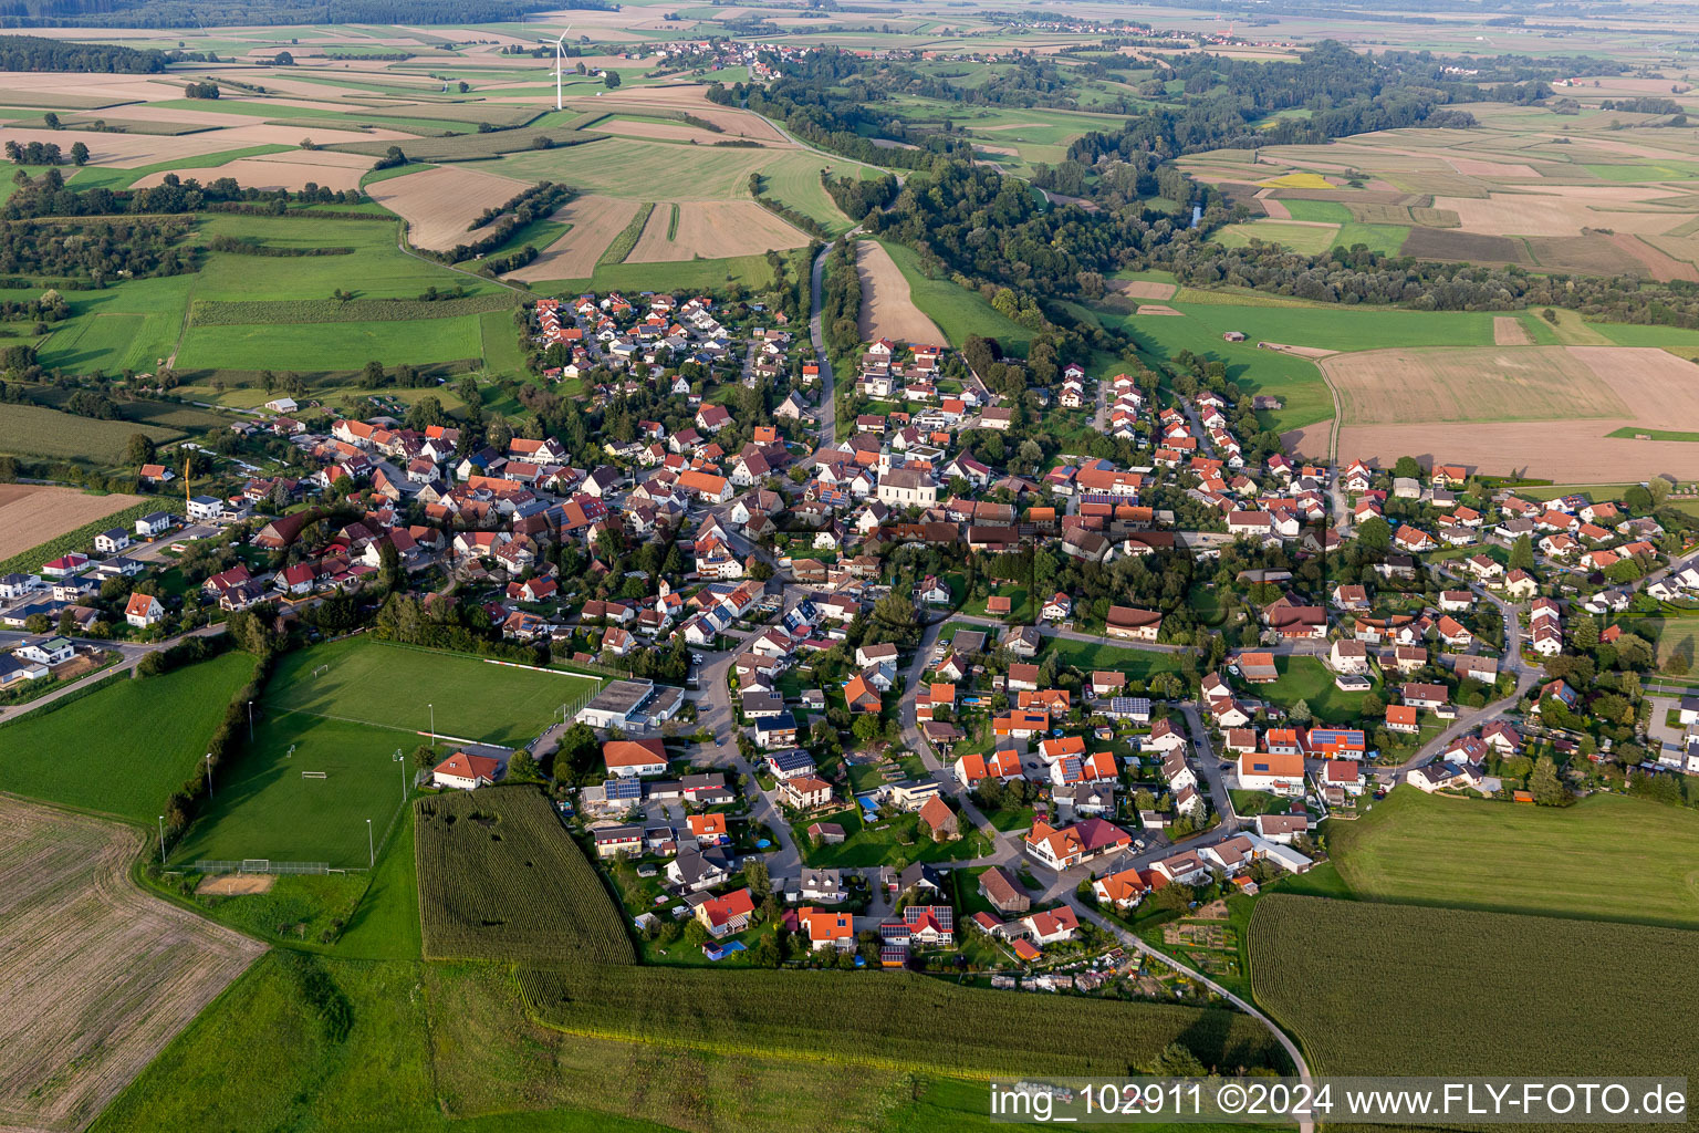
[[[544,1026],[700,1050],[974,1079],[1123,1074],[1172,1041],[1205,1065],[1284,1060],[1261,1024],[1223,1007],[1050,999],[900,973],[583,967],[518,978]]]

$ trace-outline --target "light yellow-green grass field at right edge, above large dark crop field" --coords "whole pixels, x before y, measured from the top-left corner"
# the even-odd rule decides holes
[[[1334,824],[1329,843],[1364,899],[1699,927],[1699,814],[1679,807],[1595,795],[1558,810],[1398,788]]]

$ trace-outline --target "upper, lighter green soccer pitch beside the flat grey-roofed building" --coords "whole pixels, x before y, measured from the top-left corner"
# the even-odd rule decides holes
[[[435,705],[438,736],[520,747],[559,719],[561,705],[581,703],[598,685],[576,673],[352,637],[279,661],[265,705],[421,736]]]

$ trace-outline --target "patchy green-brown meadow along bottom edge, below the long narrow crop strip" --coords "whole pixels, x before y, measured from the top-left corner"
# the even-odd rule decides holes
[[[326,1026],[309,992],[348,1004],[347,1031]],[[265,1051],[265,1074],[228,1072],[229,1051],[246,1050]],[[211,1004],[93,1128],[967,1133],[984,1113],[984,1085],[957,1079],[544,1029],[496,965],[279,950]]]

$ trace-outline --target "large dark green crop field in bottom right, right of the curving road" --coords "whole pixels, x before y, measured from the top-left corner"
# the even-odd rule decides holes
[[[1685,961],[1694,941],[1680,929],[1273,893],[1250,917],[1250,987],[1317,1074],[1475,1074],[1490,1050],[1504,1075],[1687,1075],[1699,1060],[1687,1026],[1699,1011]],[[1458,994],[1466,958],[1529,946],[1543,970],[1587,977]]]

